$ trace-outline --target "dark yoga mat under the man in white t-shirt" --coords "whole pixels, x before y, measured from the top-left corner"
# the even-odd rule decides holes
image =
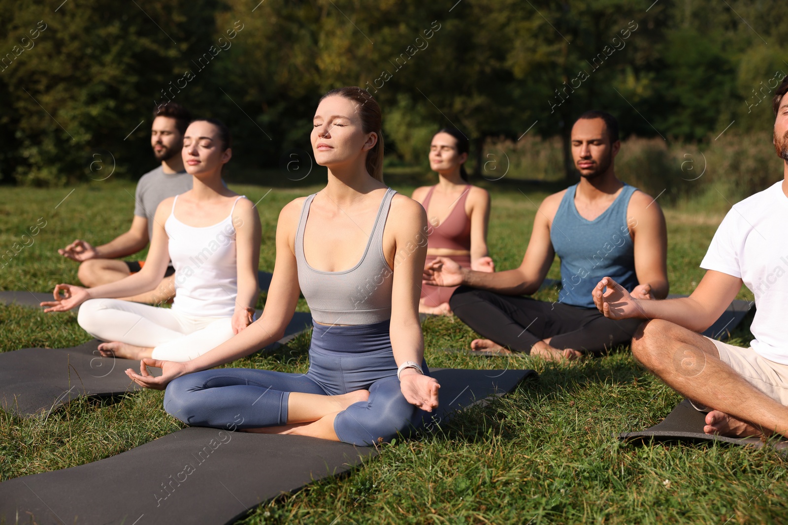
[[[725,436],[706,434],[703,427],[706,412],[697,411],[689,400],[679,403],[673,412],[661,422],[651,428],[640,432],[624,432],[618,438],[625,441],[646,442],[654,439],[658,442],[725,442],[734,445],[764,446],[760,438],[727,438]],[[769,439],[769,444],[775,449],[788,452],[788,441],[784,439]]]

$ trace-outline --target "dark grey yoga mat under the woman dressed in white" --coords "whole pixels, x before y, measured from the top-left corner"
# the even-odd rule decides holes
[[[267,349],[284,345],[312,326],[312,316],[296,312],[284,338]],[[0,353],[0,407],[18,416],[46,416],[80,396],[110,397],[137,390],[124,370],[139,368],[138,360],[101,357],[99,341],[73,348],[25,348]],[[161,374],[158,368],[151,369]]]

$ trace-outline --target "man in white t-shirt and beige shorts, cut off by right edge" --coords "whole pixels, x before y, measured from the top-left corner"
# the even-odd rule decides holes
[[[707,270],[689,298],[633,299],[605,277],[594,302],[611,319],[648,320],[632,353],[706,415],[704,432],[788,437],[788,76],[775,91],[775,150],[783,179],[738,202],[712,238]],[[719,318],[744,283],[755,295],[749,348],[699,335]],[[607,290],[604,290],[607,288]],[[603,291],[604,290],[604,291]],[[701,407],[699,405],[705,405]],[[705,410],[703,410],[705,412]]]

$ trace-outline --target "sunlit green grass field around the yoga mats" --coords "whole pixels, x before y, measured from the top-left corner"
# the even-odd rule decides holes
[[[413,182],[400,186],[403,180],[389,176],[387,182],[410,194]],[[287,189],[278,182],[231,184],[253,201],[262,198],[260,265],[267,270],[273,268],[282,205],[317,189]],[[512,268],[522,258],[536,205],[553,187],[502,181],[489,189],[490,251],[497,268]],[[14,242],[22,245],[26,228],[40,218],[46,226],[25,238],[30,246],[0,263],[0,289],[43,291],[76,283],[76,264],[58,256],[57,248],[74,238],[106,242],[128,227],[132,183],[108,180],[69,191],[2,188],[3,253]],[[689,293],[703,275],[698,264],[724,214],[719,205],[701,202],[666,210],[674,293]],[[557,261],[549,276],[559,277]],[[537,294],[555,297],[556,290]],[[740,297],[752,298],[748,290]],[[299,309],[306,310],[303,301]],[[72,313],[0,307],[0,324],[0,351],[90,339]],[[540,377],[485,408],[463,412],[420,441],[384,446],[380,457],[347,478],[314,483],[262,505],[240,523],[786,523],[786,460],[771,449],[637,447],[612,437],[657,423],[681,399],[644,372],[628,349],[579,364],[470,357],[441,351],[474,338],[459,321],[429,319],[423,329],[431,366],[534,368]],[[745,345],[749,337],[743,327],[733,342]],[[229,366],[306,372],[308,346],[309,335],[303,335],[277,353]],[[80,399],[45,421],[0,411],[0,480],[99,460],[177,430],[182,425],[163,411],[162,397],[144,391],[113,401]]]

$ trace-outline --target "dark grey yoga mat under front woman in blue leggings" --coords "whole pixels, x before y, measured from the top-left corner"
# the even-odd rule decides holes
[[[530,370],[437,369],[435,421],[515,389]],[[103,460],[0,483],[0,522],[232,523],[251,508],[377,455],[303,436],[190,427]],[[325,516],[332,523],[338,516]],[[339,522],[337,522],[339,523]]]

